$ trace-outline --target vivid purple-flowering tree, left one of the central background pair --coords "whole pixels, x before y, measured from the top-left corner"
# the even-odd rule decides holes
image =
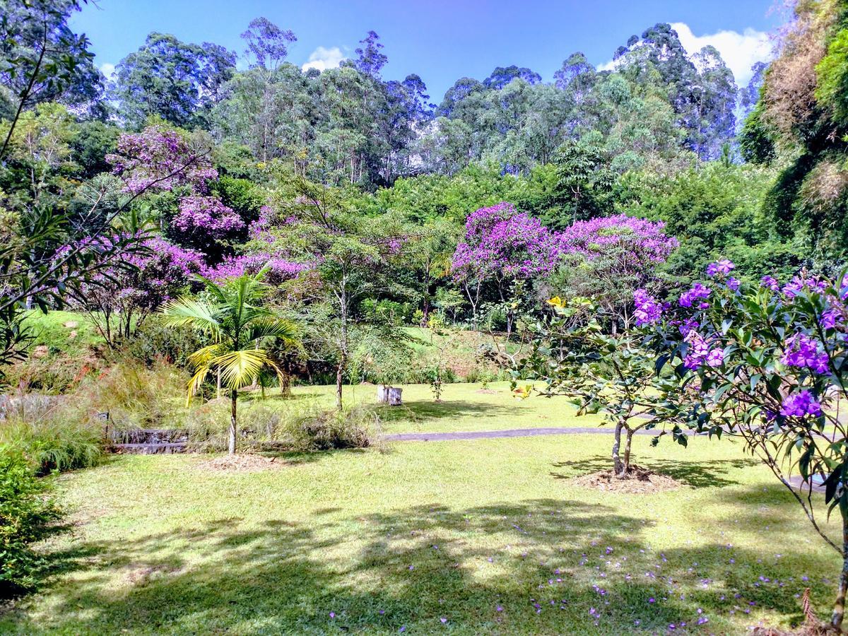
[[[506,306],[507,332],[515,317],[520,287],[555,270],[560,243],[554,232],[505,202],[472,212],[466,236],[456,246],[452,262],[455,282],[471,304],[472,320],[479,321],[481,304],[490,294]]]

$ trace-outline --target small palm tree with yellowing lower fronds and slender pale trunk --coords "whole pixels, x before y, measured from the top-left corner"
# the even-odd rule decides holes
[[[287,346],[297,346],[298,330],[271,310],[259,307],[268,286],[262,279],[265,270],[251,276],[245,274],[219,285],[202,276],[208,298],[179,298],[166,303],[161,320],[167,326],[193,326],[209,335],[212,344],[198,349],[188,358],[194,377],[188,382],[188,399],[198,392],[209,373],[220,373],[221,381],[230,389],[229,453],[236,452],[238,390],[254,384],[266,368],[282,378],[282,371],[263,340],[280,338]]]

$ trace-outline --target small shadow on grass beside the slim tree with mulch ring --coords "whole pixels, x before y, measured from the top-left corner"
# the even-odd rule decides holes
[[[639,459],[639,466],[649,468],[675,481],[692,488],[723,488],[739,483],[728,478],[731,470],[739,470],[750,466],[759,466],[760,462],[751,459],[677,461],[654,458]],[[555,471],[550,474],[557,479],[569,479],[593,472],[608,471],[612,468],[612,460],[605,455],[594,455],[580,460],[562,461],[553,465],[555,468],[566,468],[566,471]]]

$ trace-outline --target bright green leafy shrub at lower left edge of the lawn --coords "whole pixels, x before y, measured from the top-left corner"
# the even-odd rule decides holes
[[[0,598],[36,586],[43,559],[32,544],[47,536],[59,518],[47,499],[50,485],[35,476],[20,450],[0,445]]]

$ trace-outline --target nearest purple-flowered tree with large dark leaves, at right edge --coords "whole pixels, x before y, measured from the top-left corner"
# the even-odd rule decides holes
[[[848,422],[840,415],[848,278],[802,273],[784,285],[773,276],[745,284],[733,271],[728,260],[711,264],[708,280],[650,315],[669,343],[658,367],[672,367],[685,387],[667,393],[669,408],[697,431],[742,438],[842,556],[831,619],[840,628],[848,591]],[[819,525],[819,502],[828,514],[839,510],[840,537]]]

